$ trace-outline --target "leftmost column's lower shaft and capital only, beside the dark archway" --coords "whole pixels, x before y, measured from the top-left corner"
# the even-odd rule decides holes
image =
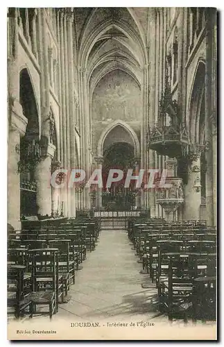
[[[20,136],[26,133],[28,120],[20,103],[11,99],[9,104],[8,133],[8,223],[19,230],[20,223],[20,175],[18,173]]]

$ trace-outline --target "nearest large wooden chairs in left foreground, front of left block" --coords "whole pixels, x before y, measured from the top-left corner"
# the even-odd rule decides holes
[[[47,311],[41,307],[40,314],[47,313],[50,318],[58,312],[58,303],[64,299],[58,254],[57,248],[29,250],[31,273],[26,273],[25,265],[8,264],[8,294],[11,294],[8,297],[8,307],[14,308],[16,318],[27,307],[33,317],[40,305],[49,307]]]

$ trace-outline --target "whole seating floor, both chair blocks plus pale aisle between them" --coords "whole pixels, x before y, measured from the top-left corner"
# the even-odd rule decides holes
[[[16,319],[216,320],[216,230],[205,221],[57,223],[8,235],[8,306]]]

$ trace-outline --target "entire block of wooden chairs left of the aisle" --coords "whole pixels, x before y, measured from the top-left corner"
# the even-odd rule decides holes
[[[87,250],[96,247],[97,221],[63,224],[8,235],[8,306],[17,318],[27,310],[32,317],[39,305],[49,306],[50,317],[58,312]]]

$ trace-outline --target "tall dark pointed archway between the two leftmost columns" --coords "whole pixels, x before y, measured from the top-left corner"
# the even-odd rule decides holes
[[[37,214],[35,165],[40,161],[41,156],[37,103],[27,69],[22,69],[19,75],[19,102],[24,116],[28,119],[26,133],[24,137],[20,138],[18,163],[20,173],[20,215],[23,217]]]

